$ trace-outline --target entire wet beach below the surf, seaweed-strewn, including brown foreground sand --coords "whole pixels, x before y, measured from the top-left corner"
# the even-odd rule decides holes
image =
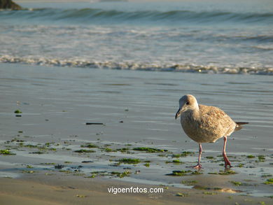
[[[1,204],[85,204],[91,198],[94,204],[221,204],[223,197],[226,204],[272,202],[272,184],[265,184],[273,174],[270,76],[19,64],[0,64],[0,76],[0,150],[16,154],[0,155]],[[179,98],[188,93],[235,121],[250,122],[228,139],[232,169],[223,167],[222,139],[204,144],[200,172],[190,168],[197,144],[174,120]],[[154,196],[106,189],[138,183],[169,189]],[[73,185],[77,189],[68,188]]]

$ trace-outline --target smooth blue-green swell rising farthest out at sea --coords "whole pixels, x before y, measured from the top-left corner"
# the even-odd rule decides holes
[[[76,20],[94,22],[104,21],[146,21],[146,22],[247,22],[247,23],[272,23],[273,13],[232,13],[221,11],[203,11],[196,12],[191,10],[171,10],[160,12],[156,10],[142,10],[134,12],[125,12],[119,10],[102,10],[94,8],[83,9],[56,9],[56,8],[38,8],[33,10],[2,10],[0,17],[43,18],[45,20]]]

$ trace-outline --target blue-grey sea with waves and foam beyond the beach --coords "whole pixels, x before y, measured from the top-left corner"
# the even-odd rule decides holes
[[[0,11],[0,62],[273,73],[273,2],[21,3]]]

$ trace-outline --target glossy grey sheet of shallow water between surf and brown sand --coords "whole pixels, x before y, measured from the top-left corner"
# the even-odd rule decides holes
[[[74,170],[85,176],[90,176],[91,171],[129,170],[132,174],[125,177],[126,181],[181,187],[185,186],[181,180],[201,181],[201,176],[218,178],[216,184],[220,187],[230,186],[224,181],[252,179],[250,185],[239,189],[249,195],[271,195],[270,185],[262,184],[268,178],[262,176],[273,173],[273,81],[270,76],[18,64],[0,64],[0,76],[0,149],[10,148],[17,154],[1,155],[1,171],[5,176],[10,172],[14,177],[25,170],[54,173],[58,171],[55,165],[41,163],[55,163],[64,164],[62,170],[72,174]],[[174,170],[193,171],[190,166],[197,162],[197,143],[188,139],[179,120],[174,119],[179,98],[188,93],[194,94],[200,104],[222,108],[235,121],[250,122],[228,139],[228,156],[235,166],[232,170],[238,174],[217,177],[209,174],[223,171],[223,141],[220,139],[203,145],[202,175],[166,176]],[[21,118],[15,117],[13,112],[16,109],[22,111]],[[102,122],[104,125],[85,125],[86,122]],[[95,153],[73,152],[82,149],[80,146],[86,143],[98,146],[94,148]],[[106,147],[112,150],[128,148],[129,153],[106,152]],[[169,151],[145,153],[132,150],[136,147]],[[194,153],[178,158],[184,164],[166,164],[177,160],[172,155],[183,151]],[[254,157],[248,158],[248,155]],[[264,156],[265,161],[260,161],[258,155]],[[120,158],[139,158],[142,162],[136,165],[122,163],[116,167]],[[82,163],[88,160],[92,162]],[[144,166],[147,160],[151,161],[150,167]],[[27,164],[33,168],[27,169]],[[239,164],[243,165],[238,167]],[[138,170],[140,173],[134,174]]]

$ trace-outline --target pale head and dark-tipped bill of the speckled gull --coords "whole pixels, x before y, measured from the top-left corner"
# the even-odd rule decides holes
[[[186,111],[194,111],[198,108],[196,98],[191,94],[186,94],[179,99],[179,111],[176,113],[176,118],[179,118],[181,113]]]

